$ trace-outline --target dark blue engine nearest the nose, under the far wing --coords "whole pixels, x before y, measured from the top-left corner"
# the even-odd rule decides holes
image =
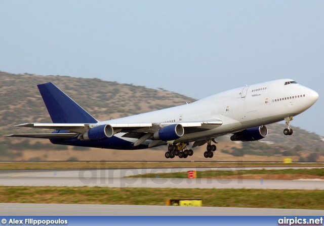
[[[231,136],[232,141],[254,141],[260,140],[268,135],[268,128],[266,126],[258,126],[243,130]]]

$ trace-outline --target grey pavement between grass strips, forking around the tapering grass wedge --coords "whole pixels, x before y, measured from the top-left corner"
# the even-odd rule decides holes
[[[323,180],[251,180],[240,179],[239,177],[237,179],[125,178],[125,176],[144,173],[229,169],[231,168],[4,170],[0,171],[0,185],[324,190]],[[270,167],[270,169],[274,168]]]

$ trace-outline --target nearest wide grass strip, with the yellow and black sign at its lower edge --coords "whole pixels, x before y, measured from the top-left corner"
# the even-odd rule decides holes
[[[203,206],[324,209],[322,190],[152,189],[0,186],[2,203],[166,205],[167,199],[202,199]]]

